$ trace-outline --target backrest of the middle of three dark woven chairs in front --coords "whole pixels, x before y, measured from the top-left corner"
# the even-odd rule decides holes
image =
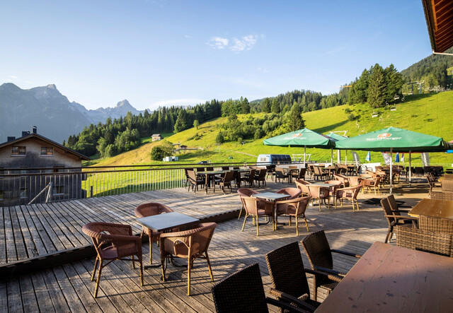
[[[305,293],[310,297],[304,261],[297,242],[268,252],[265,259],[273,288],[294,297],[300,297]]]

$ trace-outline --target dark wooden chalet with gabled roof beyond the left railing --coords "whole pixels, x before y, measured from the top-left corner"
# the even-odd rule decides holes
[[[85,175],[74,168],[82,160],[91,159],[37,134],[35,126],[8,137],[0,144],[0,206],[85,198]]]

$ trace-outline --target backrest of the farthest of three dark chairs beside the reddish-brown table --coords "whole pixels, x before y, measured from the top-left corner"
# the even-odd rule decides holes
[[[315,269],[315,266],[333,269],[331,247],[324,230],[311,232],[311,234],[306,235],[301,243],[309,259],[311,269]]]

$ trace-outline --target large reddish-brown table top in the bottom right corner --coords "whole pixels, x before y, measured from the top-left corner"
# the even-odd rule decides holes
[[[451,312],[453,258],[374,242],[316,312]]]

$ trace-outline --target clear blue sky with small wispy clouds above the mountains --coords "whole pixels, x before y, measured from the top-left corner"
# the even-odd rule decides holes
[[[0,83],[88,109],[337,93],[431,54],[414,1],[1,1]]]

